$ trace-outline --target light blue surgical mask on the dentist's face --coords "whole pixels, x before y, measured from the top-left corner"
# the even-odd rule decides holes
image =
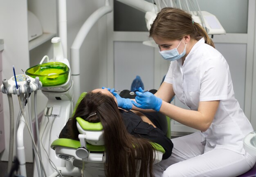
[[[180,43],[181,43],[181,41],[180,41]],[[162,58],[164,58],[164,60],[169,60],[169,61],[175,61],[175,60],[179,60],[180,58],[182,58],[186,54],[186,45],[185,45],[183,52],[180,54],[177,50],[177,48],[180,46],[180,43],[176,48],[171,49],[171,50],[160,51],[160,49],[159,49],[159,53],[161,54]]]

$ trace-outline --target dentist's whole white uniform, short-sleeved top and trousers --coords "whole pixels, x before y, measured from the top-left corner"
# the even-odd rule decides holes
[[[173,84],[176,97],[197,111],[202,101],[220,100],[211,126],[205,132],[172,139],[173,154],[154,166],[163,177],[235,177],[256,162],[243,148],[243,138],[252,125],[235,98],[225,58],[200,39],[182,65],[171,62],[164,82]],[[168,167],[170,166],[170,167]]]

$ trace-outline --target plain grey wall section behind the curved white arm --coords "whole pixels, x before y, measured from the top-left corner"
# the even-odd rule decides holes
[[[104,0],[67,1],[67,49],[70,49],[82,24]],[[80,49],[80,90],[91,91],[106,85],[107,20],[103,16],[90,30]],[[70,56],[70,50],[68,50]]]

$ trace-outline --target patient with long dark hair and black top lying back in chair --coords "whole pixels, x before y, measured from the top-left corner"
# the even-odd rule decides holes
[[[147,171],[150,177],[153,177],[154,151],[150,142],[160,144],[164,148],[166,152],[163,159],[171,156],[171,139],[145,115],[141,114],[140,117],[132,111],[118,108],[116,98],[106,89],[95,89],[85,95],[59,138],[79,140],[76,117],[88,122],[101,122],[106,148],[107,177],[135,177],[138,166],[139,177],[147,177]]]

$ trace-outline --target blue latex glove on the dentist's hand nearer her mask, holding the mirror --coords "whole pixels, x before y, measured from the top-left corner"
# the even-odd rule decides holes
[[[153,95],[150,92],[144,92],[141,87],[139,87],[139,91],[136,92],[135,100],[132,101],[132,104],[138,108],[142,109],[154,109],[155,111],[159,111],[162,106],[162,99]]]

